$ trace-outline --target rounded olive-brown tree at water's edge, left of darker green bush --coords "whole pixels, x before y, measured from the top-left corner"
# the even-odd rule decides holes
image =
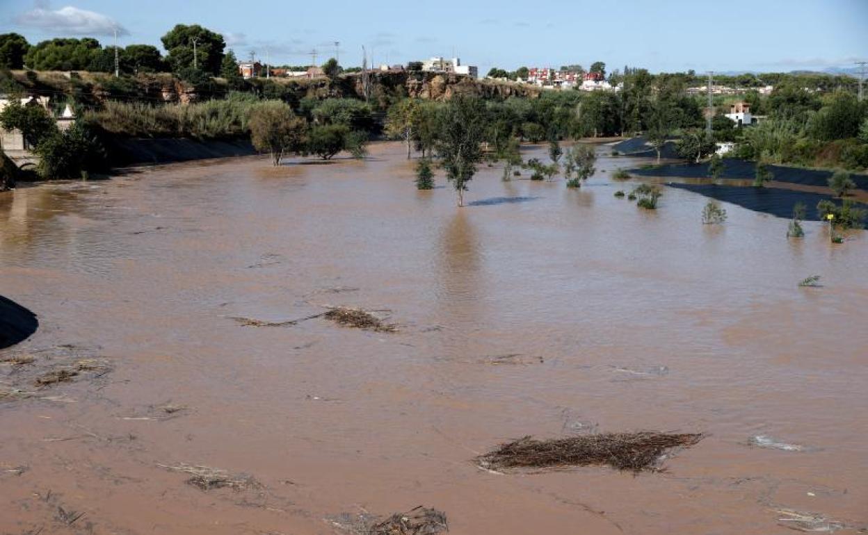
[[[304,119],[293,114],[293,108],[279,101],[265,101],[250,111],[250,140],[253,147],[271,153],[274,166],[280,165],[284,153],[302,148],[307,130]]]

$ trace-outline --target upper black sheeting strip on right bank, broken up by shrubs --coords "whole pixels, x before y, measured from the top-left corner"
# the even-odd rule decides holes
[[[756,162],[724,158],[723,173],[720,179],[753,180],[756,176]],[[773,180],[804,186],[828,186],[832,171],[815,171],[799,167],[768,166],[773,173]],[[645,177],[677,177],[683,179],[709,178],[708,163],[701,164],[667,164],[654,169],[631,169],[630,173]],[[850,178],[856,187],[868,190],[868,176],[851,173]]]

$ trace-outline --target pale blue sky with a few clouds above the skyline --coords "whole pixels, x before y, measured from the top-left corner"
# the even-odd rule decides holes
[[[453,51],[482,73],[597,60],[653,72],[827,69],[868,59],[868,0],[535,0],[469,2],[374,0],[0,0],[0,33],[30,42],[89,35],[151,43],[175,23],[219,31],[239,57],[250,50],[275,64],[333,55],[405,63]]]

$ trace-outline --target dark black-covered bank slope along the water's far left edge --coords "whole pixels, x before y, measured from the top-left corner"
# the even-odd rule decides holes
[[[249,156],[256,150],[247,140],[113,139],[107,143],[112,166],[165,164],[178,161]]]

